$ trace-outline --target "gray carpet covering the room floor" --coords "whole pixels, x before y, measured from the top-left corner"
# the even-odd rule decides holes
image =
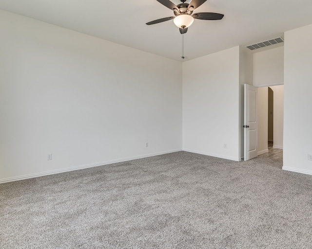
[[[176,152],[0,184],[0,248],[312,248],[312,176]]]

